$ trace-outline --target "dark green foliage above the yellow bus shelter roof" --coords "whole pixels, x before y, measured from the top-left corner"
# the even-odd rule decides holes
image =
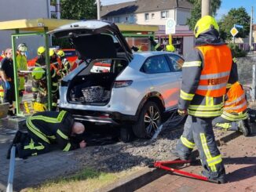
[[[97,19],[95,0],[61,0],[61,19],[92,20]]]

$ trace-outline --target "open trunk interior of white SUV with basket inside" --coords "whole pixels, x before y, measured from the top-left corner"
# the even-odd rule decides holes
[[[106,105],[111,98],[115,78],[128,62],[124,59],[93,60],[75,76],[68,87],[68,102]]]

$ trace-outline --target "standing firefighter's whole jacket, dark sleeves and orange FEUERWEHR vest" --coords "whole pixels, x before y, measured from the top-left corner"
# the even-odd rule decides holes
[[[195,117],[220,116],[226,85],[236,76],[233,67],[236,65],[232,65],[232,54],[227,45],[196,46],[182,66],[178,107],[188,109],[188,114]],[[231,69],[233,72],[229,77]]]

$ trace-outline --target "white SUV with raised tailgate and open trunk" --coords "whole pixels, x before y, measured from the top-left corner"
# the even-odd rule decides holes
[[[50,33],[68,37],[85,60],[60,85],[59,107],[75,119],[132,125],[137,137],[150,138],[163,113],[177,109],[181,56],[132,53],[118,27],[103,21],[81,21]]]

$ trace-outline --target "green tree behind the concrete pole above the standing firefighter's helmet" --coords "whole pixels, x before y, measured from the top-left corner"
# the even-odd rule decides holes
[[[191,17],[187,20],[187,24],[191,30],[194,30],[196,26],[196,21],[201,18],[201,7],[203,0],[188,0],[193,4],[193,8],[191,10]],[[210,15],[216,16],[216,11],[221,6],[221,0],[210,1]]]

